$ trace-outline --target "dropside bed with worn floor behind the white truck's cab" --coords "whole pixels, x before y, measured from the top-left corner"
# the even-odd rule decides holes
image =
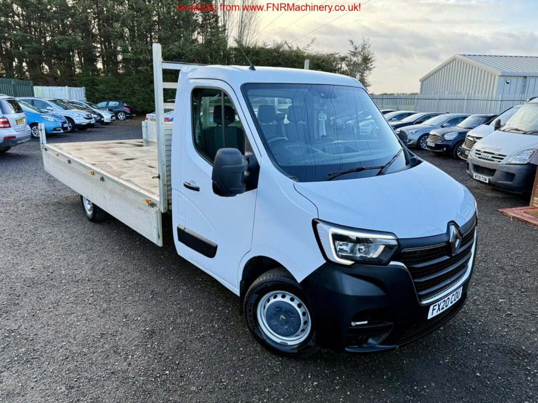
[[[41,153],[45,171],[162,246],[161,213],[171,211],[172,200],[172,125],[164,125],[161,161],[156,124],[142,126],[138,140],[51,144],[43,131]]]

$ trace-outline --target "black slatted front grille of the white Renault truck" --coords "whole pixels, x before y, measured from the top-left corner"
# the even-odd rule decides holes
[[[475,231],[476,226],[473,225],[462,236],[458,253],[454,256],[451,256],[448,242],[400,251],[397,260],[409,270],[421,301],[440,296],[465,276],[472,258]]]

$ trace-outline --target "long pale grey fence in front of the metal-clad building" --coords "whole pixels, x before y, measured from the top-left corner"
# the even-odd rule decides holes
[[[538,93],[536,94],[538,95]],[[523,95],[492,96],[427,96],[388,94],[372,95],[379,109],[398,109],[417,112],[500,113],[527,100]]]

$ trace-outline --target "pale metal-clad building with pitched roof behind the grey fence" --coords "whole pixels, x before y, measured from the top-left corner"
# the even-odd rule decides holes
[[[538,56],[458,54],[420,79],[424,96],[538,95]]]

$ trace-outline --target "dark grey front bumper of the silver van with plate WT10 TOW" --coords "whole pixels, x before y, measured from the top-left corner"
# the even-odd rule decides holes
[[[467,172],[471,178],[474,174],[486,176],[488,184],[509,192],[527,193],[532,191],[536,176],[533,164],[499,164],[483,161],[469,155]]]

